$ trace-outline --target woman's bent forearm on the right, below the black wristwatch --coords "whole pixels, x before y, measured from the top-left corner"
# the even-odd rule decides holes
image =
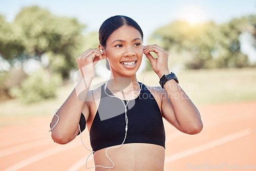
[[[165,72],[167,74],[169,72]],[[162,75],[159,73],[159,77]],[[164,89],[173,106],[177,129],[188,134],[200,132],[203,126],[200,113],[179,84],[172,79],[164,84]]]

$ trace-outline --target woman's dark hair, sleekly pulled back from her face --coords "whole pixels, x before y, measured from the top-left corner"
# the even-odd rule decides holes
[[[130,17],[124,15],[116,15],[106,19],[99,28],[99,43],[104,48],[106,47],[106,40],[109,36],[122,26],[131,26],[137,29],[141,38],[143,39],[143,32],[140,26]]]

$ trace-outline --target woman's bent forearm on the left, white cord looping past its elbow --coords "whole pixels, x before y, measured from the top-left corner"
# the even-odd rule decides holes
[[[91,81],[91,78],[80,79],[70,96],[56,112],[56,115],[59,116],[59,121],[52,130],[52,139],[55,142],[64,144],[72,141],[76,137],[79,119]],[[57,117],[54,116],[51,127],[56,122]]]

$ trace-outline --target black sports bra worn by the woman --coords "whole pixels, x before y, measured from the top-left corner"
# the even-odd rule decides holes
[[[141,85],[141,83],[140,83]],[[113,94],[106,89],[108,95]],[[116,97],[109,97],[101,86],[101,99],[90,130],[93,151],[122,144],[125,136],[125,108]],[[125,101],[125,104],[127,101]],[[150,143],[165,148],[165,131],[159,106],[142,84],[140,95],[127,105],[128,131],[126,143]],[[81,119],[80,123],[81,125]],[[85,124],[85,123],[84,123]],[[82,126],[81,127],[85,127]]]

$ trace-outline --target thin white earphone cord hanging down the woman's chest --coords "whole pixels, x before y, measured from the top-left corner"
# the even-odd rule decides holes
[[[102,51],[102,50],[100,50],[100,51]],[[106,59],[106,60],[107,60],[107,59]],[[102,63],[103,63],[103,60],[102,60]],[[104,63],[103,63],[103,66],[106,68],[106,66],[104,65]],[[106,68],[106,70],[108,70],[108,69]],[[139,92],[136,93],[134,96],[138,95],[138,94],[141,92],[142,84],[143,84],[144,77],[145,77],[145,70],[146,70],[146,62],[145,62],[144,75],[143,75],[143,79],[142,79],[142,82],[141,82],[140,90],[139,90]],[[108,78],[106,79],[106,81],[105,81],[105,86],[104,86],[104,92],[105,92],[105,94],[108,95],[109,97],[116,97],[116,98],[120,99],[120,100],[122,101],[123,105],[124,105],[124,108],[125,108],[125,123],[126,123],[126,125],[125,125],[125,136],[124,136],[124,139],[123,139],[122,144],[120,144],[119,146],[110,146],[110,147],[108,147],[108,148],[106,149],[106,151],[105,151],[106,157],[108,157],[108,159],[109,159],[109,160],[112,162],[112,164],[113,164],[112,167],[106,167],[106,166],[102,166],[102,165],[96,165],[96,166],[92,166],[92,167],[87,167],[87,161],[88,161],[89,157],[94,153],[94,151],[88,149],[88,148],[86,147],[86,145],[84,145],[83,140],[82,140],[80,125],[78,124],[81,142],[82,142],[83,146],[88,149],[88,151],[92,152],[92,153],[90,153],[90,155],[88,156],[88,158],[87,158],[87,160],[86,160],[86,168],[93,168],[93,167],[114,168],[115,164],[114,164],[114,162],[110,159],[110,157],[108,156],[107,151],[108,151],[108,149],[110,149],[110,148],[118,148],[118,147],[122,146],[123,143],[124,143],[124,141],[125,141],[125,139],[126,139],[126,135],[127,135],[127,131],[128,131],[127,105],[128,105],[128,103],[129,103],[129,101],[130,101],[134,96],[132,96],[132,97],[127,101],[127,103],[126,103],[126,105],[125,105],[124,101],[123,101],[121,98],[119,98],[119,97],[117,97],[117,96],[111,96],[111,95],[109,95],[108,93],[106,93],[106,87],[107,87],[107,84],[108,84],[108,80],[109,80],[109,73],[108,73]],[[57,109],[57,110],[58,110],[58,109]],[[58,121],[59,121],[59,116],[56,115],[56,111],[57,111],[57,110],[54,111],[54,115],[57,116],[58,120],[57,120],[56,124],[52,127],[52,129],[54,129],[54,127],[57,125],[57,123],[58,123]],[[52,131],[52,129],[51,129],[50,131]],[[50,132],[50,131],[49,131],[49,132]]]

